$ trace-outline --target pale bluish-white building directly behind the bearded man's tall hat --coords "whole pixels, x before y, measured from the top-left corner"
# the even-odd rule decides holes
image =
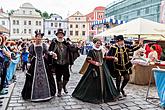
[[[65,33],[65,37],[68,37],[67,20],[63,20],[62,17],[57,14],[52,15],[50,19],[45,19],[44,21],[45,37],[49,39],[55,38],[56,37],[55,33],[57,32],[58,28],[62,28]]]

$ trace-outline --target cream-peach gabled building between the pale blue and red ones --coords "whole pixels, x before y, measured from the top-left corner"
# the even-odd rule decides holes
[[[86,16],[77,11],[68,18],[69,37],[72,41],[87,39],[88,22]]]

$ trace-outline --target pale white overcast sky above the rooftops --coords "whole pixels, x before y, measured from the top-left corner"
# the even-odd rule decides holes
[[[31,3],[36,9],[42,12],[47,11],[50,13],[56,13],[66,18],[74,14],[76,11],[80,11],[83,15],[86,15],[94,10],[97,6],[106,7],[114,0],[0,0],[0,7],[7,10],[17,10],[23,3]]]

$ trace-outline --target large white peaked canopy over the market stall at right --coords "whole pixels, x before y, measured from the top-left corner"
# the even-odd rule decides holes
[[[96,37],[110,35],[165,35],[165,24],[137,18],[125,24],[108,29],[96,35]]]

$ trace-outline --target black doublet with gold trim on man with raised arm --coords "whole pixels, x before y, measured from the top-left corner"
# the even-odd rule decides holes
[[[116,71],[116,70],[119,72],[129,71],[132,67],[132,63],[129,60],[129,52],[133,52],[139,48],[140,48],[140,45],[136,45],[136,46],[125,45],[123,47],[119,47],[118,45],[112,46],[107,55],[117,57],[118,61],[117,62],[112,62],[112,61],[107,62],[107,65],[108,65],[111,73],[114,73],[114,71]]]

